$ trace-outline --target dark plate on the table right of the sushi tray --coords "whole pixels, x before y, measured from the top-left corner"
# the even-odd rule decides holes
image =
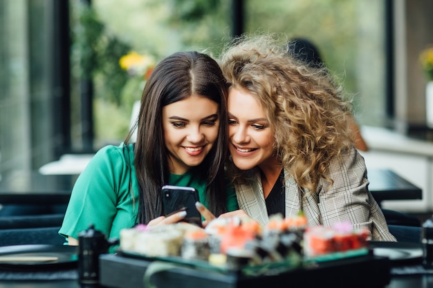
[[[370,242],[375,256],[388,257],[396,264],[421,263],[423,249],[421,243],[409,242]]]

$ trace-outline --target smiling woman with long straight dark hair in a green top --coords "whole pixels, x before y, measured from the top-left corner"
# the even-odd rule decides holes
[[[192,186],[215,215],[234,211],[226,184],[227,87],[214,59],[176,52],[156,66],[142,93],[138,122],[120,146],[106,146],[78,177],[59,233],[77,244],[94,224],[107,238],[135,224],[168,224],[186,213],[163,216],[161,188]],[[129,143],[133,129],[136,143]]]

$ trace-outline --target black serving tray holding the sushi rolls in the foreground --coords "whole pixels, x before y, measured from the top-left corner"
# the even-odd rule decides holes
[[[156,265],[166,267],[158,270],[154,269]],[[377,288],[389,283],[390,267],[389,258],[367,254],[310,262],[275,275],[250,276],[239,271],[216,271],[181,263],[104,254],[100,256],[100,284],[113,288],[148,288],[149,285],[145,284],[147,278],[156,287],[165,288]],[[150,277],[145,277],[147,269],[154,271]]]

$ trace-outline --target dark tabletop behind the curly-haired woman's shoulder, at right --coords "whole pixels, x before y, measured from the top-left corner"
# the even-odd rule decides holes
[[[369,191],[380,203],[383,200],[423,199],[423,191],[389,169],[368,169]]]

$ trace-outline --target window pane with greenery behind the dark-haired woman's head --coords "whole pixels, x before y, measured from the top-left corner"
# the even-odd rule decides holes
[[[72,3],[75,11],[81,10],[81,15],[86,13],[80,6],[82,1]],[[208,49],[211,54],[218,51],[223,37],[230,32],[230,1],[93,0],[91,5],[94,13],[89,12],[85,22],[80,15],[74,17],[73,65],[82,61],[75,56],[91,49],[93,57],[86,58],[84,64],[82,61],[82,67],[89,67],[87,72],[93,73],[94,146],[98,149],[125,139],[133,103],[140,99],[144,86],[145,70],[131,75],[120,67],[120,58],[133,51],[147,57],[151,67],[178,50]],[[91,43],[80,38],[79,28],[83,23],[93,33],[88,38]],[[75,67],[76,71],[80,70]],[[75,95],[73,99],[79,97]]]

